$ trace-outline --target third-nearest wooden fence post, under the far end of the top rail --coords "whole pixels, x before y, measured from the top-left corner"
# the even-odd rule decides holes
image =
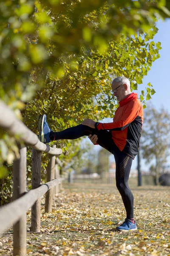
[[[53,145],[56,148],[56,145]],[[55,168],[55,155],[49,156],[49,162],[47,167],[47,182],[54,179],[54,168]],[[53,188],[50,189],[45,195],[45,212],[52,211],[53,204]]]

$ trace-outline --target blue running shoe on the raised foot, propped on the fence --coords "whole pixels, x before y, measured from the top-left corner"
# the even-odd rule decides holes
[[[48,126],[45,114],[42,115],[39,119],[38,130],[39,130],[39,140],[42,143],[49,143],[50,142],[49,135],[50,135],[51,129]]]

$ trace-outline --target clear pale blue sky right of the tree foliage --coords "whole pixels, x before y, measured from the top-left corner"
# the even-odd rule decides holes
[[[161,42],[162,49],[159,51],[160,58],[153,62],[150,71],[147,76],[142,80],[143,84],[139,84],[138,90],[134,91],[140,95],[140,91],[144,86],[150,82],[153,85],[156,93],[149,100],[153,106],[159,110],[162,106],[170,113],[170,19],[166,21],[160,20],[157,22],[159,31],[153,38],[153,41]],[[102,121],[103,122],[103,121]],[[110,120],[105,122],[111,122]],[[100,146],[95,146],[98,151]],[[113,155],[110,157],[111,161],[114,161]],[[170,164],[170,157],[168,157],[168,163]],[[137,167],[137,157],[133,160],[132,169]],[[144,160],[141,161],[141,169],[144,171],[149,170],[150,165],[146,165]]]

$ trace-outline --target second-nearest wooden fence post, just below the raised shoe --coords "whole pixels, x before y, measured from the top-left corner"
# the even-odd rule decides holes
[[[32,149],[32,189],[37,189],[41,183],[41,151]],[[31,231],[40,233],[41,199],[31,208]]]

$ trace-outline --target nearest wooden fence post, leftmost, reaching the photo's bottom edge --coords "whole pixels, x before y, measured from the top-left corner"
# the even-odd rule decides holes
[[[19,146],[20,148],[20,146]],[[13,163],[13,199],[26,193],[26,147],[20,148],[20,159]],[[26,256],[26,213],[13,225],[13,255]]]

